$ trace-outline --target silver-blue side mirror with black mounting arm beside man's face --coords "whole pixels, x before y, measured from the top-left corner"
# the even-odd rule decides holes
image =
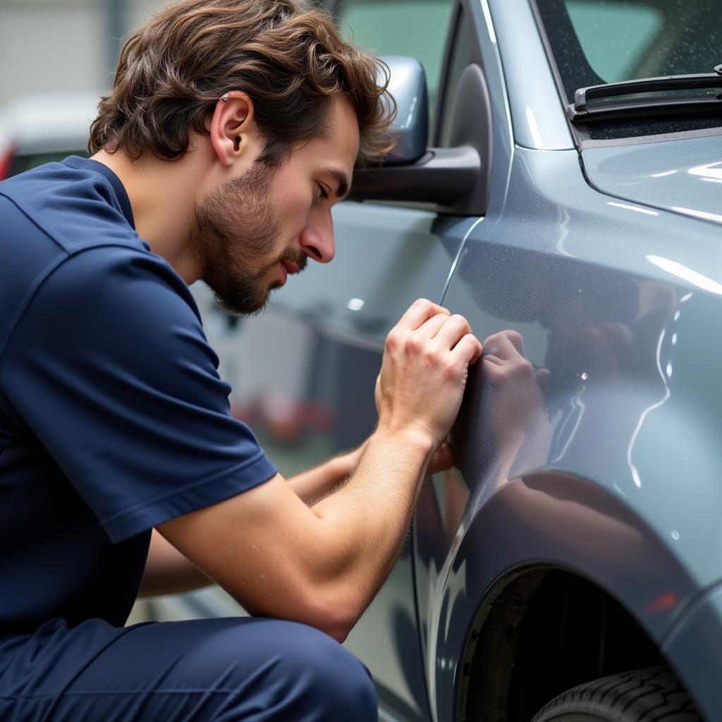
[[[453,147],[427,147],[428,100],[422,65],[405,56],[380,59],[390,71],[388,90],[396,100],[391,132],[398,140],[383,164],[355,171],[349,199],[428,203],[448,212],[483,214],[487,189],[479,193],[485,180],[477,144],[462,137]],[[488,108],[482,71],[470,65],[461,74],[449,115],[468,116],[465,123],[473,126],[482,114],[489,116]]]

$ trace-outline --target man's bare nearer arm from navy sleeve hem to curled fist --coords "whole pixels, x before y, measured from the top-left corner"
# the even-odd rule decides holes
[[[417,301],[388,335],[378,427],[344,487],[308,508],[277,475],[159,531],[251,614],[342,640],[401,551],[427,464],[480,353],[464,318]]]

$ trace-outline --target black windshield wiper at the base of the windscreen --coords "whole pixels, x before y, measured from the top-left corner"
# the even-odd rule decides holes
[[[591,123],[607,118],[628,118],[630,116],[666,116],[669,113],[722,112],[722,92],[710,93],[714,88],[722,89],[722,65],[713,73],[697,75],[666,75],[660,78],[625,80],[620,83],[606,83],[579,88],[574,93],[574,103],[567,105],[567,116],[574,123]],[[669,92],[670,90],[706,90],[697,95],[669,95],[629,98],[609,103],[607,98],[617,95],[638,93]],[[593,100],[600,103],[589,103]]]

